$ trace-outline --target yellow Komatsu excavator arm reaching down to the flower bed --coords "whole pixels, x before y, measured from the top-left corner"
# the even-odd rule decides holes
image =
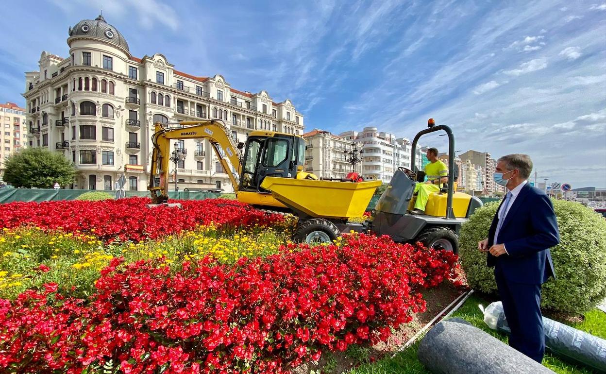
[[[168,125],[183,127],[170,128]],[[235,141],[228,133],[224,122],[218,119],[210,121],[156,122],[155,132],[151,136],[153,150],[151,152],[150,179],[148,190],[151,192],[153,204],[162,204],[168,200],[168,168],[170,167],[170,142],[172,139],[208,139],[215,150],[225,173],[230,178],[235,192],[238,192],[238,181],[231,173],[227,159],[219,151],[225,152],[238,175],[242,173],[241,154]],[[159,176],[159,185],[156,178]]]

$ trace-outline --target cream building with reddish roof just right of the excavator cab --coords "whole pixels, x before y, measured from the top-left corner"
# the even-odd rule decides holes
[[[348,152],[353,149],[353,142],[340,138],[330,132],[315,129],[304,133],[305,138],[305,171],[314,173],[322,179],[341,179],[347,173],[360,171],[360,164],[355,167],[346,161]],[[358,147],[361,149],[361,147]]]

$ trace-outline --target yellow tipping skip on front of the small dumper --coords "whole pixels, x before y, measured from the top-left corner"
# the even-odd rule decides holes
[[[299,214],[347,219],[364,214],[379,185],[381,181],[353,183],[268,176],[261,187]]]

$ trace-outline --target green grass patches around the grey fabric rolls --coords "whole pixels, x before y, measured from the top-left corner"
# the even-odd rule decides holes
[[[477,295],[470,296],[465,304],[453,313],[452,317],[465,319],[473,326],[484,330],[495,338],[507,343],[505,334],[491,330],[484,323],[484,316],[478,308],[478,304],[488,306],[491,301],[481,298]],[[561,321],[565,322],[565,321]],[[567,323],[576,329],[591,333],[601,338],[606,338],[606,313],[594,309],[585,313],[585,319],[575,324]],[[384,358],[374,364],[364,364],[356,369],[350,370],[350,374],[391,374],[391,373],[411,373],[411,374],[429,374],[428,370],[417,359],[417,349],[421,339],[408,347],[404,352],[398,353],[395,358]],[[543,365],[559,374],[591,374],[590,369],[570,364],[557,356],[545,353]]]

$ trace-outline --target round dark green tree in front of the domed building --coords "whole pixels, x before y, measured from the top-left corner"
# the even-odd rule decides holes
[[[4,180],[15,187],[52,189],[73,183],[76,167],[62,153],[42,148],[23,149],[4,162]]]

